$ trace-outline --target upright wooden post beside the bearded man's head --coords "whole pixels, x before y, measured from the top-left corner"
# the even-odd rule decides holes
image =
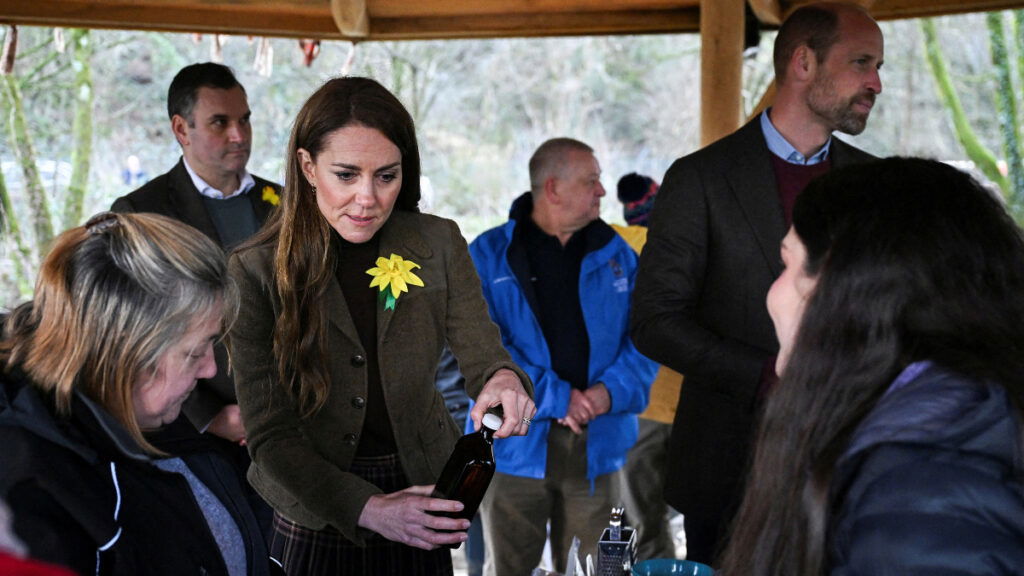
[[[743,0],[700,0],[700,146],[739,127]]]

